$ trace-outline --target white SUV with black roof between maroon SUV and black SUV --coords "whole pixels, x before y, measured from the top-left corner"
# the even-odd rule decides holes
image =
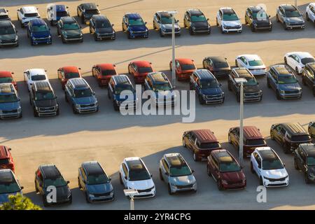
[[[255,151],[251,153],[251,172],[258,175],[261,186],[288,186],[289,177],[284,166],[279,156],[270,147],[255,148]]]

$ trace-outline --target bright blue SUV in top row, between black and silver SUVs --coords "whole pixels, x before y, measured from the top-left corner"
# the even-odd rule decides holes
[[[127,33],[128,38],[148,38],[148,28],[146,27],[146,22],[142,20],[139,13],[126,13],[123,16],[122,25],[123,31]]]

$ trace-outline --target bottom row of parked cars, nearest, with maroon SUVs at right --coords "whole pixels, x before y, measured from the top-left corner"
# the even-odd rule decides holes
[[[270,147],[255,126],[244,127],[244,157],[250,158],[251,172],[256,174],[260,186],[288,186],[289,176],[285,164]],[[306,183],[315,181],[315,123],[309,123],[309,132],[298,123],[272,125],[270,138],[277,141],[284,153],[293,153],[294,167],[302,171]],[[207,174],[214,178],[219,190],[246,188],[243,167],[233,155],[223,149],[211,130],[190,130],[183,133],[183,147],[193,153],[193,159],[207,161]],[[228,141],[239,149],[239,127],[228,132]],[[15,165],[11,149],[0,146],[0,203],[8,195],[22,193],[15,178]],[[197,191],[197,181],[188,162],[180,153],[167,153],[159,162],[160,180],[167,185],[169,195],[181,191]],[[124,188],[137,190],[135,198],[155,197],[152,174],[141,158],[125,158],[119,168],[120,183]],[[35,190],[45,206],[72,202],[71,190],[55,165],[41,165],[35,172]],[[50,201],[51,186],[57,190],[57,200]],[[78,168],[78,188],[83,190],[87,202],[111,201],[115,198],[111,177],[97,161],[83,162]]]

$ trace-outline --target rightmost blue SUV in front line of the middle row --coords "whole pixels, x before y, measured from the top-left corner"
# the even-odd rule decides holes
[[[267,86],[276,92],[276,99],[300,99],[302,87],[286,65],[271,66],[267,72]]]

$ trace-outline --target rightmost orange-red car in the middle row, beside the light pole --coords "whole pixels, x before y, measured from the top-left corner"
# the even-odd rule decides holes
[[[189,80],[190,76],[196,70],[193,59],[176,58],[175,59],[175,74],[177,80]],[[172,61],[169,62],[169,70],[172,71]]]

